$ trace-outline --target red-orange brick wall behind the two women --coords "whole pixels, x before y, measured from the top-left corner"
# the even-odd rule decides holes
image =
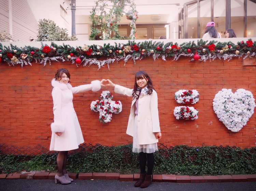
[[[51,139],[50,124],[53,121],[51,79],[58,68],[65,67],[71,73],[73,86],[90,83],[91,80],[109,78],[114,83],[133,87],[134,74],[147,71],[158,93],[158,106],[162,139],[160,143],[168,146],[186,144],[189,146],[230,145],[241,148],[254,147],[256,142],[254,113],[247,125],[237,133],[229,131],[215,115],[212,101],[222,88],[232,88],[233,92],[244,88],[256,97],[256,70],[254,66],[243,66],[243,60],[233,58],[224,60],[194,61],[180,58],[178,61],[163,61],[152,58],[138,60],[136,64],[123,61],[98,70],[98,67],[76,67],[70,62],[52,62],[44,67],[0,65],[0,142],[8,146],[49,147]],[[103,90],[113,88],[103,88]],[[200,93],[197,120],[176,120],[173,116],[174,100],[179,89],[196,89]],[[121,145],[132,143],[126,135],[131,98],[113,93],[113,100],[120,100],[123,111],[114,114],[109,123],[98,121],[99,114],[90,111],[90,103],[98,99],[101,91],[74,94],[74,108],[80,121],[86,143]]]

